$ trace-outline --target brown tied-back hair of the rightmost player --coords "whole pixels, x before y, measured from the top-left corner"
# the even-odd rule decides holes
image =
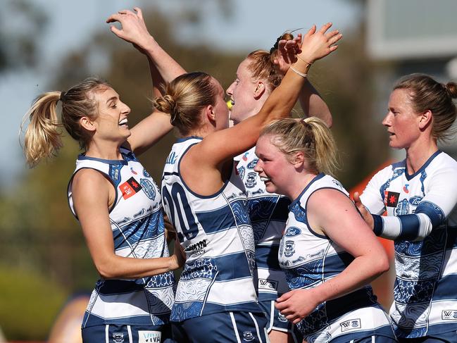
[[[409,98],[416,113],[430,110],[433,114],[432,136],[434,139],[446,140],[453,132],[448,131],[456,120],[457,110],[452,99],[457,97],[457,84],[439,83],[425,74],[411,74],[401,78],[395,89],[407,89]]]

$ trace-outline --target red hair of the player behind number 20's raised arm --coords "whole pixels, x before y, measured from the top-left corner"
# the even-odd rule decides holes
[[[275,59],[277,58],[277,46],[281,39],[294,39],[294,35],[286,32],[277,38],[275,45],[270,49],[270,52],[265,50],[252,51],[246,58],[249,60],[248,70],[251,72],[253,80],[265,80],[268,82],[270,91],[273,91],[280,85],[282,75],[278,73],[275,66]]]

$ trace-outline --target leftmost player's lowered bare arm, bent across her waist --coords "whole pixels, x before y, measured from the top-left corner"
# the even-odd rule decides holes
[[[136,279],[180,267],[182,258],[178,259],[175,255],[158,258],[127,258],[115,255],[113,232],[108,217],[110,189],[113,189],[113,186],[101,173],[92,169],[80,170],[73,178],[72,189],[82,232],[101,277]]]

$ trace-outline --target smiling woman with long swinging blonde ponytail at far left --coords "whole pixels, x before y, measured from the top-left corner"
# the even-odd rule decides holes
[[[151,75],[158,85],[152,65]],[[156,87],[154,94],[160,95]],[[58,153],[62,127],[83,149],[68,201],[101,276],[84,314],[84,343],[173,342],[172,270],[184,261],[177,239],[169,256],[161,193],[137,159],[173,126],[168,115],[154,111],[130,129],[129,113],[119,94],[94,77],[66,92],[38,96],[27,113],[24,148],[30,166]]]

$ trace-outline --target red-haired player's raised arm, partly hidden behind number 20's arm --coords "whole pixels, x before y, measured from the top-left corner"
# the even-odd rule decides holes
[[[277,45],[277,56],[273,61],[278,72],[282,75],[287,73],[289,67],[296,61],[296,54],[301,51],[301,35],[297,35],[292,41],[282,39]],[[332,127],[332,113],[318,91],[306,80],[299,94],[299,101],[303,114],[306,117],[314,116],[324,121],[327,127]]]

